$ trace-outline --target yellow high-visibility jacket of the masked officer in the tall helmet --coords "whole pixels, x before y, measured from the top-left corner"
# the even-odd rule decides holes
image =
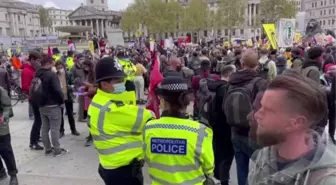
[[[104,169],[116,169],[143,158],[142,130],[153,114],[121,101],[124,93],[98,89],[89,106],[90,133]]]

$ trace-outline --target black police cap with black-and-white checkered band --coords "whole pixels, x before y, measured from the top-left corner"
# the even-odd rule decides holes
[[[188,91],[188,84],[186,80],[180,76],[165,77],[157,89],[157,93],[160,95],[184,91]]]

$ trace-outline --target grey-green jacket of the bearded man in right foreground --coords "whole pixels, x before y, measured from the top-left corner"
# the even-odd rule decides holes
[[[253,185],[335,185],[336,146],[314,134],[316,148],[278,170],[273,147],[257,151],[250,162],[248,184]],[[280,160],[281,161],[281,160]]]

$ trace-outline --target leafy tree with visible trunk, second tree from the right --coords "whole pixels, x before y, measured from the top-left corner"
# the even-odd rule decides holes
[[[218,24],[222,28],[229,29],[231,40],[232,29],[240,27],[245,22],[246,0],[221,0],[217,10]]]

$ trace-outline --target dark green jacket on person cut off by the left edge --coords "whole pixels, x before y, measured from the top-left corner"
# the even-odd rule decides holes
[[[11,99],[7,91],[0,87],[0,114],[4,116],[4,123],[0,123],[0,136],[9,134],[9,118],[13,117]]]

